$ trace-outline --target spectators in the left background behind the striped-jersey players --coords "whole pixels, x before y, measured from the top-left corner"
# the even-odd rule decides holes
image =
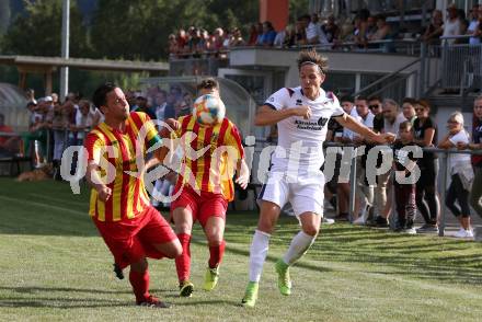
[[[151,119],[190,114],[193,105],[192,94],[179,85],[171,85],[169,90],[150,87],[125,94],[130,111],[144,112]],[[30,112],[26,131],[15,134],[0,114],[0,154],[32,158],[33,166],[51,161],[54,179],[61,180],[59,168],[64,151],[70,146],[83,145],[87,133],[103,122],[103,114],[81,94],[69,93],[65,102],[59,102],[56,93],[35,99],[34,91],[27,90],[26,96]],[[72,171],[76,164],[74,159]]]

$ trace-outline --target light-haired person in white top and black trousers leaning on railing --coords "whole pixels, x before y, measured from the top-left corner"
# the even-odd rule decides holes
[[[451,149],[457,145],[469,143],[469,134],[463,129],[463,116],[455,112],[447,120],[448,134],[438,143],[440,149]],[[473,182],[473,170],[470,166],[469,154],[449,154],[448,168],[450,170],[451,183],[447,189],[445,205],[460,222],[460,230],[456,233],[458,238],[472,238],[473,232],[470,226],[469,192]],[[458,202],[459,206],[456,205]]]

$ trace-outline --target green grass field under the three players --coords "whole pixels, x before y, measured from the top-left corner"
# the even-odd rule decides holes
[[[0,179],[1,321],[481,321],[482,244],[404,235],[348,225],[323,227],[292,269],[282,297],[274,262],[298,227],[283,218],[272,238],[260,300],[238,306],[248,280],[256,214],[229,214],[219,287],[177,297],[173,261],[151,261],[151,290],[169,310],[139,308],[88,215],[88,192],[67,184]],[[208,251],[194,232],[193,283],[202,285]],[[126,272],[127,273],[127,272]]]

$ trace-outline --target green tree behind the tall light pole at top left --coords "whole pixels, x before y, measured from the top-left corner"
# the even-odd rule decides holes
[[[25,1],[25,14],[18,15],[2,42],[3,54],[60,56],[61,0]],[[88,57],[87,28],[76,1],[70,1],[70,56]]]

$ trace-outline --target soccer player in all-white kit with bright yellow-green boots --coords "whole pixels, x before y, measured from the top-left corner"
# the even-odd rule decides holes
[[[311,246],[323,217],[323,141],[328,122],[334,117],[343,127],[378,142],[394,140],[394,135],[377,135],[347,115],[335,95],[321,89],[328,60],[314,50],[300,51],[300,87],[284,88],[271,95],[255,116],[256,126],[277,124],[278,145],[272,156],[266,183],[259,196],[260,219],[250,249],[250,281],[242,304],[254,307],[266,260],[269,237],[283,206],[290,202],[301,231],[294,237],[286,254],[276,262],[278,289],[291,294],[289,267]]]

